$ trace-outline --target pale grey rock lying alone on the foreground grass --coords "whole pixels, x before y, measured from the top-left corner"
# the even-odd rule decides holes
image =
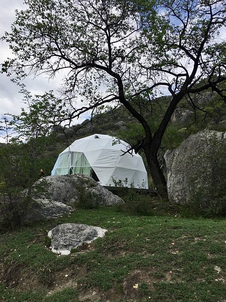
[[[98,237],[103,237],[107,230],[86,224],[63,223],[48,233],[51,238],[53,253],[68,255],[74,248],[83,243],[90,243]]]

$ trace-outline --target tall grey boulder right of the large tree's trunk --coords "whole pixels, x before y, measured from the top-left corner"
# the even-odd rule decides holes
[[[226,132],[202,131],[190,135],[164,156],[167,189],[172,203],[198,202],[208,207],[223,196]]]

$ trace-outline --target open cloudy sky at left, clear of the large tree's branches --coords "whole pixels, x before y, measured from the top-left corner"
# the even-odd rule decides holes
[[[15,21],[15,10],[22,10],[25,8],[23,0],[0,0],[1,18],[0,18],[0,37],[4,33],[11,31],[11,24]],[[0,64],[2,64],[8,57],[12,58],[12,52],[7,43],[0,41]],[[45,75],[33,79],[32,76],[27,78],[24,82],[28,91],[32,95],[42,95],[46,91],[53,90],[57,93],[60,87],[61,79],[56,78],[50,80]],[[19,93],[19,87],[10,81],[6,74],[0,73],[0,119],[3,119],[4,114],[20,114],[21,108],[25,107],[22,100],[23,95]],[[76,123],[81,123],[87,116],[76,120]],[[0,142],[5,142],[5,132],[0,131]]]

